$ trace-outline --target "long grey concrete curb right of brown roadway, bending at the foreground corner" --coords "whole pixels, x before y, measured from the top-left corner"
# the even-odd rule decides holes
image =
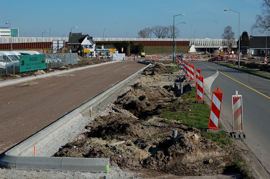
[[[145,62],[140,62],[145,64]],[[81,106],[77,107],[70,113],[59,118],[49,126],[40,130],[31,137],[25,139],[23,142],[16,145],[14,148],[5,152],[0,156],[0,164],[16,169],[35,169],[35,170],[71,170],[71,171],[95,171],[95,172],[108,172],[109,170],[109,159],[97,159],[97,158],[76,158],[76,157],[34,157],[34,156],[20,156],[19,154],[33,145],[51,131],[64,124],[70,118],[75,117],[76,114],[82,112],[89,112],[90,106],[95,103],[101,103],[104,99],[109,97],[115,90],[124,86],[127,82],[137,76],[144,68],[147,68],[151,64],[141,68],[137,72],[123,79],[119,83],[113,85],[104,92],[93,97],[89,101],[86,101]]]

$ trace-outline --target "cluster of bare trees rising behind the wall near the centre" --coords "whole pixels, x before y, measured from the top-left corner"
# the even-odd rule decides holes
[[[174,36],[179,36],[179,29],[175,27]],[[153,26],[152,28],[146,27],[138,32],[138,38],[151,38],[151,36],[157,38],[173,38],[173,26]]]

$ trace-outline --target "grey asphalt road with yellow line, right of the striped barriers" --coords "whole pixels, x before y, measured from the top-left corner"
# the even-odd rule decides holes
[[[215,75],[218,71],[216,78],[212,78],[214,81],[211,85],[210,96],[212,96],[212,91],[220,87],[220,91],[223,92],[221,115],[225,118],[223,120],[230,124],[229,132],[232,132],[232,95],[235,95],[235,91],[242,95],[243,129],[247,136],[243,142],[269,173],[270,80],[214,63],[198,61],[192,61],[192,63],[196,69],[198,67],[201,69],[204,79]],[[209,91],[205,92],[209,93]]]

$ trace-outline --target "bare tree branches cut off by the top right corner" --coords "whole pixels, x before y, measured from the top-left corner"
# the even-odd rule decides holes
[[[270,31],[270,0],[263,0],[261,4],[262,15],[256,15],[256,21],[251,26],[251,31],[264,33]]]

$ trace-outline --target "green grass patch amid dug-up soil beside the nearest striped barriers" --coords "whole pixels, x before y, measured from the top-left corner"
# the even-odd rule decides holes
[[[195,103],[196,89],[183,94],[182,99],[183,102],[167,104],[166,108],[161,109],[161,113],[157,116],[180,121],[187,124],[188,127],[195,127],[200,130],[203,137],[217,142],[217,145],[221,147],[232,143],[232,140],[225,132],[221,131],[221,134],[212,134],[205,131],[205,128],[208,127],[210,106]],[[220,125],[219,128],[222,128],[222,126]]]

